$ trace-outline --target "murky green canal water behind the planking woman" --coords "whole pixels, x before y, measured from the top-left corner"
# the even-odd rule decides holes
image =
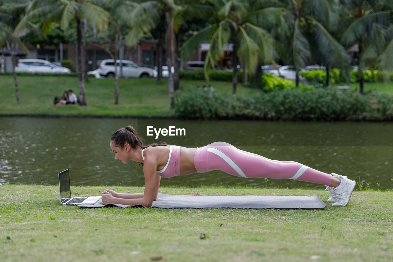
[[[145,144],[166,141],[200,147],[225,141],[270,159],[347,175],[371,183],[371,188],[393,188],[393,123],[105,118],[0,118],[0,183],[57,185],[57,173],[70,168],[72,185],[143,186],[142,167],[115,161],[109,146],[112,133],[126,125],[136,127]],[[186,135],[155,139],[147,136],[147,126],[185,128]],[[161,181],[161,185],[266,186],[263,178],[245,179],[220,171]],[[268,179],[267,186],[320,187],[290,179]]]

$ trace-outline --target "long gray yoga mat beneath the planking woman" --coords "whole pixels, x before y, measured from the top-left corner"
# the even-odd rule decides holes
[[[104,205],[101,199],[94,205],[79,207],[143,207],[143,205]],[[181,196],[158,193],[152,207],[158,208],[324,208],[316,196]]]

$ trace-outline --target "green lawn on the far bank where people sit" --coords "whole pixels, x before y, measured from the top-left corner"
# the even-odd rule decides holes
[[[119,79],[119,104],[114,105],[114,79],[89,77],[85,83],[88,106],[53,105],[55,96],[72,89],[79,96],[77,77],[18,76],[20,105],[15,98],[13,76],[0,76],[0,114],[69,114],[117,116],[171,116],[168,82],[163,79]],[[182,80],[185,90],[211,84],[217,94],[232,92],[232,83]],[[238,85],[239,93],[249,89]]]

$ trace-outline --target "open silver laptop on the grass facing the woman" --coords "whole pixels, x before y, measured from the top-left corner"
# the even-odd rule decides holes
[[[62,206],[94,205],[101,197],[71,197],[70,170],[59,173],[60,204]]]

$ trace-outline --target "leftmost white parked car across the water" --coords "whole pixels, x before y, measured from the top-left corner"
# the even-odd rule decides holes
[[[71,70],[43,59],[19,59],[15,72],[70,74]]]

